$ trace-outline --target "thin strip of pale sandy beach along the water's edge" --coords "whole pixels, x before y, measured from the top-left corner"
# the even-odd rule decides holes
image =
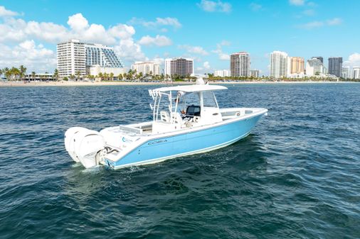
[[[210,84],[327,84],[356,82],[210,82]],[[98,87],[115,85],[171,85],[171,82],[0,82],[0,87]],[[194,84],[194,82],[173,82]]]

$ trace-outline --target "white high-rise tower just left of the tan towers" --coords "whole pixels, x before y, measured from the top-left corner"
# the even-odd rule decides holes
[[[288,68],[288,58],[286,52],[275,50],[270,53],[270,76],[286,77]]]

